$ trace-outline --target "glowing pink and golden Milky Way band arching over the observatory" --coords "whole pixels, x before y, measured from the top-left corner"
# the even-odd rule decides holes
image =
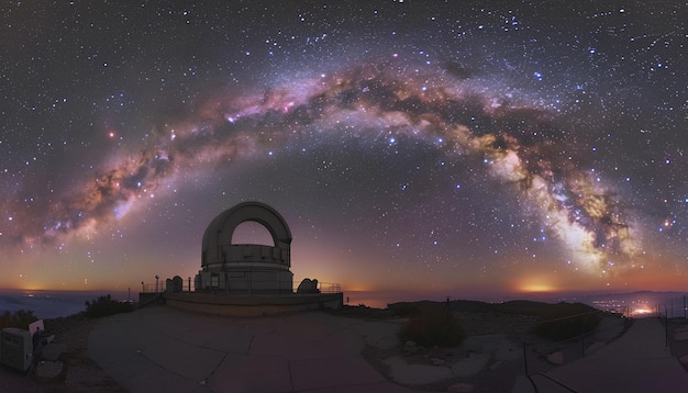
[[[10,229],[15,244],[52,244],[122,218],[142,194],[163,192],[180,168],[235,161],[258,151],[317,139],[313,134],[429,142],[451,157],[482,158],[523,209],[590,272],[630,268],[640,246],[631,214],[613,189],[565,153],[570,144],[553,113],[519,92],[495,92],[445,66],[422,74],[391,61],[274,86],[255,94],[208,100],[167,122],[137,154],[46,206],[43,220]],[[473,124],[480,123],[477,128]]]

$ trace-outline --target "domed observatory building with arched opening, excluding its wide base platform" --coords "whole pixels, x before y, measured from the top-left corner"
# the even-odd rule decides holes
[[[273,246],[233,244],[244,222],[263,225]],[[244,202],[218,215],[206,228],[201,246],[201,271],[196,290],[235,294],[291,293],[291,232],[285,218],[260,202]]]

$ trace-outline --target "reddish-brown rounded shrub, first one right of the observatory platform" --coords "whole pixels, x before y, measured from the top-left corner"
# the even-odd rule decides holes
[[[451,347],[463,341],[463,327],[454,314],[443,306],[423,307],[398,333],[401,343],[413,341],[422,346]]]

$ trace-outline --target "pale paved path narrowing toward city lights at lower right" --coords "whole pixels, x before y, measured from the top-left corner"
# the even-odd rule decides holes
[[[546,373],[580,393],[688,392],[688,373],[665,345],[657,318],[636,319],[619,339],[599,351]],[[533,377],[541,393],[569,392],[542,375]],[[534,392],[524,377],[513,393]]]

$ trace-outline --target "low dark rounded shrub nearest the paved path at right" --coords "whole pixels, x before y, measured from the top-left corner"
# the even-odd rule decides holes
[[[558,303],[541,316],[533,333],[547,339],[565,340],[595,330],[601,319],[600,313],[586,304]]]

